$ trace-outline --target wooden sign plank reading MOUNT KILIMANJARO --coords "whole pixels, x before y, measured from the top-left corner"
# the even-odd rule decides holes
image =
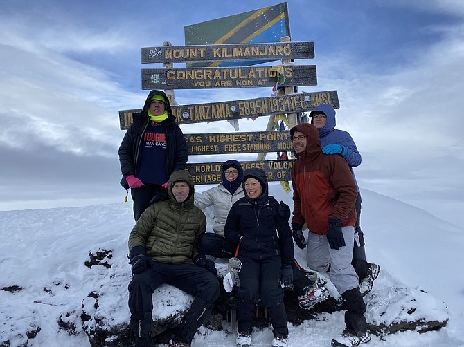
[[[163,62],[223,62],[241,60],[313,59],[314,42],[211,44],[142,48],[142,64]]]

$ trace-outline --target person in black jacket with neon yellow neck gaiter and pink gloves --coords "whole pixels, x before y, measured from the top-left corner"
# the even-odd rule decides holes
[[[175,123],[169,99],[163,91],[148,93],[140,113],[127,129],[119,147],[123,178],[130,188],[137,221],[150,203],[166,199],[166,184],[172,172],[184,170],[188,147]]]

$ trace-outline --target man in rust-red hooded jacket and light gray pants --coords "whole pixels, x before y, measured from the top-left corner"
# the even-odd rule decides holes
[[[357,186],[341,156],[323,153],[314,124],[298,124],[290,129],[290,136],[296,156],[292,166],[292,225],[295,229],[295,225],[307,224],[307,265],[328,272],[344,301],[346,328],[332,339],[332,346],[357,346],[371,339],[359,278],[351,265]]]

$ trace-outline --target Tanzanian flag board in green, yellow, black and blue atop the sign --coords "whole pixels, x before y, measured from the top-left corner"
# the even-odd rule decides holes
[[[184,27],[186,46],[260,44],[278,42],[280,37],[285,36],[290,36],[286,2]],[[269,61],[256,59],[241,62],[194,63],[189,66],[249,66]]]

